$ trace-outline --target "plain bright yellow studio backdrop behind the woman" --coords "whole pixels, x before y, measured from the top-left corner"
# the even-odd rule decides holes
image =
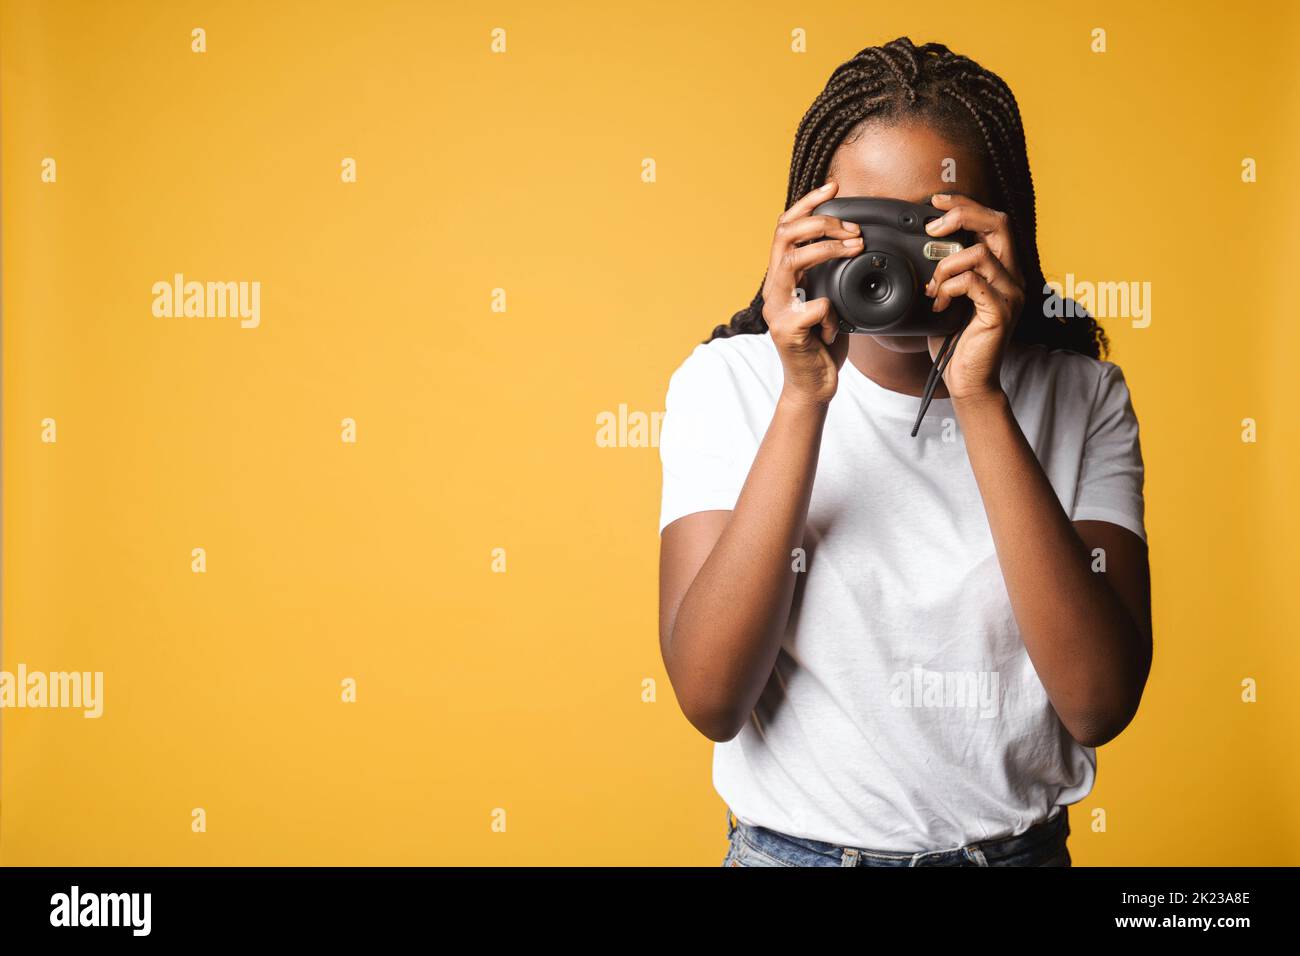
[[[1075,862],[1300,862],[1297,22],[4,3],[3,670],[104,687],[0,711],[0,861],[716,865],[641,425],[758,287],[802,112],[906,34],[1017,92],[1049,277],[1150,284],[1104,324],[1156,659]],[[178,273],[256,323],[156,316]]]

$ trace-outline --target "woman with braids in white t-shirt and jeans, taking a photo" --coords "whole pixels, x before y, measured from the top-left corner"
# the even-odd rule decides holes
[[[940,339],[801,302],[863,247],[812,213],[835,195],[979,239],[926,289],[974,315],[915,438]],[[786,207],[660,438],[660,646],[718,741],[725,864],[1069,866],[1066,808],[1150,669],[1143,462],[1102,330],[1050,308],[1015,98],[941,44],[863,49],[800,124]]]

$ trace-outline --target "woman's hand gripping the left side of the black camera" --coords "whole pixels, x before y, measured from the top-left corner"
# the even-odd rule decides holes
[[[837,183],[828,182],[781,213],[763,282],[763,319],[785,369],[781,397],[798,403],[829,402],[849,354],[849,337],[840,334],[831,300],[803,302],[794,294],[803,274],[818,263],[848,259],[862,251],[862,229],[857,222],[811,215],[837,189]],[[812,242],[822,237],[827,242]]]

